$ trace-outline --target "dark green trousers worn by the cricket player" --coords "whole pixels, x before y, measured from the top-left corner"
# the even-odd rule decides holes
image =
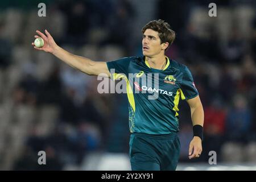
[[[179,161],[177,134],[130,136],[130,162],[133,171],[175,171]]]

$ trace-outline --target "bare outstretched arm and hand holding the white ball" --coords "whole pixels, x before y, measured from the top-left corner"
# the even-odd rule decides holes
[[[82,57],[82,56],[76,56],[72,53],[69,53],[68,51],[65,51],[63,48],[59,47],[55,41],[53,40],[52,36],[49,34],[47,30],[45,30],[46,35],[44,35],[40,31],[36,31],[36,33],[39,35],[35,35],[35,38],[41,37],[44,40],[44,46],[43,47],[35,47],[34,43],[32,43],[32,46],[34,46],[35,49],[40,51],[45,51],[52,53],[60,60],[64,61],[68,65],[70,65],[73,68],[78,69],[81,72],[84,72],[88,75],[100,75],[100,73],[105,73],[106,77],[110,77],[109,69],[106,65],[106,62],[101,61],[93,61],[88,58]]]

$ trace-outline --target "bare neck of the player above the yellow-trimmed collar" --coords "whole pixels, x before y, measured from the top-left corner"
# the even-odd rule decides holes
[[[145,60],[150,65],[150,68],[154,69],[164,69],[166,66],[166,56],[164,55],[156,55],[154,57],[145,57]]]

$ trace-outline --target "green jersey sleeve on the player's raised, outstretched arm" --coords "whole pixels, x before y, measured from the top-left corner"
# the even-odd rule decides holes
[[[122,59],[106,62],[113,80],[117,78],[117,75],[119,75],[119,78],[120,78],[120,75],[128,77],[129,75],[128,68],[129,68],[130,61],[131,61],[130,57],[124,57]]]

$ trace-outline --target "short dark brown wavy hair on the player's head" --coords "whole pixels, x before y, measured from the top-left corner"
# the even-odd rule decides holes
[[[164,22],[164,20],[152,20],[148,22],[143,28],[142,28],[142,34],[147,29],[151,29],[158,32],[158,36],[161,40],[161,44],[164,42],[168,42],[169,46],[174,42],[175,39],[175,31],[171,30],[170,24],[167,22]],[[168,47],[169,47],[168,46]],[[167,47],[167,49],[168,49]]]

